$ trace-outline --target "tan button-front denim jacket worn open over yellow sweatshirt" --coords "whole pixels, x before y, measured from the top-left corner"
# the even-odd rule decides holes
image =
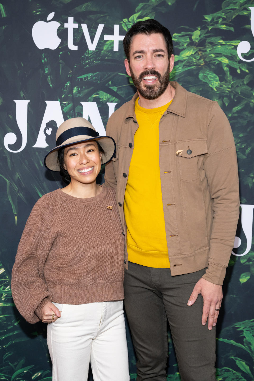
[[[177,82],[171,85],[176,93],[159,123],[161,192],[171,274],[208,266],[204,279],[221,285],[239,216],[233,134],[217,102],[189,93]],[[116,141],[117,152],[106,165],[105,185],[116,188],[125,235],[123,203],[138,128],[136,98],[137,93],[115,111],[106,128],[107,135]],[[151,176],[152,155],[153,147],[147,147],[147,176]],[[126,268],[127,260],[126,251]]]

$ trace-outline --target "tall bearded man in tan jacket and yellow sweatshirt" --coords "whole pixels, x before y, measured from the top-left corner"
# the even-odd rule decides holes
[[[166,381],[167,319],[182,381],[215,380],[215,325],[239,213],[235,143],[217,102],[169,82],[171,35],[149,19],[123,41],[137,93],[110,117],[137,381]]]

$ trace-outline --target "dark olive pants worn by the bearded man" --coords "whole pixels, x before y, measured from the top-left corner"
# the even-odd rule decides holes
[[[166,381],[169,322],[181,381],[215,381],[215,328],[201,324],[203,298],[187,306],[205,269],[171,276],[129,262],[125,270],[125,310],[137,355],[137,381]]]

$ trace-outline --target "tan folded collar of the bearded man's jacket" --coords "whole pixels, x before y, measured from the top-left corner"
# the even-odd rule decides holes
[[[172,112],[173,114],[185,117],[186,106],[187,106],[187,90],[183,88],[177,82],[170,82],[170,85],[176,89],[173,101],[169,105],[167,112]],[[135,93],[133,98],[128,102],[128,108],[126,110],[125,119],[133,118],[135,113],[135,101],[138,94]]]

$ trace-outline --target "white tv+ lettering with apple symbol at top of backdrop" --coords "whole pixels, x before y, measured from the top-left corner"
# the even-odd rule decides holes
[[[32,28],[32,37],[38,49],[55,50],[61,43],[58,37],[57,30],[61,25],[58,21],[50,21],[54,17],[54,12],[51,12],[47,17],[47,22],[37,21]],[[101,37],[102,29],[105,24],[99,24],[94,36],[93,42],[88,31],[87,24],[81,24],[84,37],[88,46],[88,50],[95,50],[99,38]],[[78,46],[73,44],[73,30],[78,28],[78,24],[73,21],[73,17],[68,17],[68,22],[64,24],[64,28],[68,30],[67,44],[70,50],[78,50]],[[113,35],[104,35],[104,40],[113,41],[113,50],[118,51],[119,41],[123,41],[124,35],[119,35],[119,24],[114,25]]]

